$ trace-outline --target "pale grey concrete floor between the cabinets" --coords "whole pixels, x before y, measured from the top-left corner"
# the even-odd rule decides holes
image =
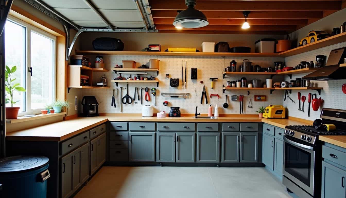
[[[75,198],[292,198],[262,167],[104,166]]]

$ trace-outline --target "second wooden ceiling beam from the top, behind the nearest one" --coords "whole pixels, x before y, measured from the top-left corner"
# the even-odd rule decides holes
[[[152,10],[154,18],[175,18],[176,10]],[[203,11],[208,19],[238,18],[244,19],[242,11]],[[322,18],[323,11],[252,11],[248,19],[309,19]]]

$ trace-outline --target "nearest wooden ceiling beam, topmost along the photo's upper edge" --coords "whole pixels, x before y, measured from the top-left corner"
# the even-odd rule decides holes
[[[185,10],[182,0],[151,0],[151,10]],[[198,1],[195,6],[200,11],[206,10],[340,10],[342,1]],[[251,14],[250,14],[251,15]]]

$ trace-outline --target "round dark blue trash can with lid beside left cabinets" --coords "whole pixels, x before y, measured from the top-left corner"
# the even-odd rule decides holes
[[[0,197],[46,198],[49,159],[12,156],[0,159]]]

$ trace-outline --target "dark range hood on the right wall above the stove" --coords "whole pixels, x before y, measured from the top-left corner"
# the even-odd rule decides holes
[[[330,51],[326,67],[312,72],[304,77],[303,80],[339,80],[346,79],[346,67],[339,67],[346,58],[346,48]]]

